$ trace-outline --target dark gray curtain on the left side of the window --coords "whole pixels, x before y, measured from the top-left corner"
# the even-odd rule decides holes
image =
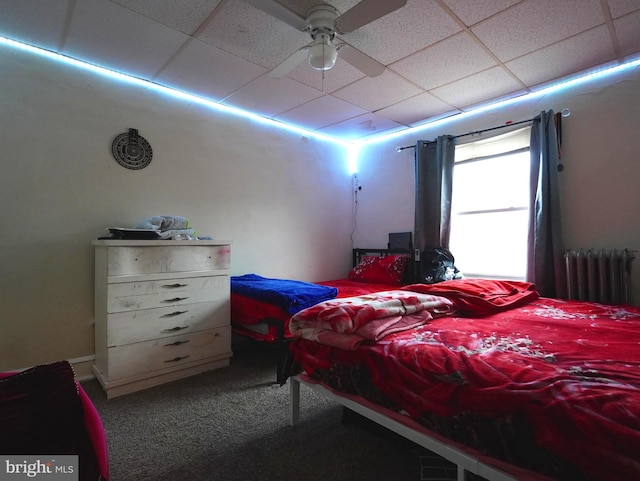
[[[415,148],[415,248],[449,247],[455,143],[443,135]]]

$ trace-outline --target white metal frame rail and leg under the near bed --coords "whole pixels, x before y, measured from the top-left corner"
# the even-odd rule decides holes
[[[517,478],[514,478],[493,466],[485,464],[478,458],[465,453],[458,448],[449,446],[438,439],[406,426],[401,422],[391,419],[390,417],[352,399],[340,396],[320,384],[306,382],[300,376],[290,377],[289,382],[291,390],[290,422],[292,426],[295,426],[300,421],[300,384],[304,384],[313,391],[333,399],[344,407],[351,409],[371,421],[390,429],[394,433],[397,433],[400,436],[403,436],[404,438],[413,441],[414,443],[454,463],[458,468],[458,481],[465,481],[467,472],[482,476],[489,481],[518,481]]]

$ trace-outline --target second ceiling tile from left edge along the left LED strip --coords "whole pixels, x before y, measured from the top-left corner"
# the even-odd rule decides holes
[[[189,39],[103,0],[77,2],[63,52],[136,77],[150,78]]]

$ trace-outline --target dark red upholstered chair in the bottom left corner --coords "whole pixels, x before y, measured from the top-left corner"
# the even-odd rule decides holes
[[[81,481],[107,481],[102,421],[67,361],[0,373],[0,454],[78,455]]]

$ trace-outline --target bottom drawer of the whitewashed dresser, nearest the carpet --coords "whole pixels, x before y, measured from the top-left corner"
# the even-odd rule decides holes
[[[178,368],[199,359],[229,353],[229,326],[109,348],[110,379]]]

